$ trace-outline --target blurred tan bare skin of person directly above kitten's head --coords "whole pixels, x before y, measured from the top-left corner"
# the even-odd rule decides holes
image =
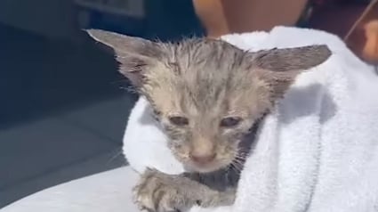
[[[294,26],[308,0],[193,0],[208,37]]]

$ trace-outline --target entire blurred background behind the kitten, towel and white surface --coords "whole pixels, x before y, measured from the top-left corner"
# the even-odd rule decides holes
[[[122,136],[137,96],[127,91],[113,55],[82,29],[165,41],[310,27],[345,37],[374,63],[376,2],[1,0],[0,208],[127,163]]]

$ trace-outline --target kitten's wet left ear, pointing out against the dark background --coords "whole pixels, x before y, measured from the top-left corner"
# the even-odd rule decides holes
[[[133,86],[141,86],[143,71],[149,66],[156,65],[161,56],[157,43],[147,39],[101,29],[87,29],[86,32],[94,40],[114,50],[117,61],[120,62],[119,71],[130,79]]]

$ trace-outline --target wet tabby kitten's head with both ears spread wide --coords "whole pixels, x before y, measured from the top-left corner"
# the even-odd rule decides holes
[[[301,70],[326,61],[326,45],[249,53],[220,40],[178,44],[91,29],[111,46],[120,72],[144,95],[169,136],[175,157],[197,172],[237,161],[238,143]]]

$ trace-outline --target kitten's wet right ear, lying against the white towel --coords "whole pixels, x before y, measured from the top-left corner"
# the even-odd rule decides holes
[[[281,97],[303,70],[320,65],[331,54],[326,45],[263,50],[253,53],[253,67],[269,83],[274,96]]]

